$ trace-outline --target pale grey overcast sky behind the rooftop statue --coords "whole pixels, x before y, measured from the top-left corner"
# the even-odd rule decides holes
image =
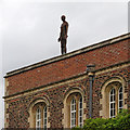
[[[0,129],[3,76],[61,55],[61,15],[68,22],[67,52],[128,32],[129,0],[0,0]]]

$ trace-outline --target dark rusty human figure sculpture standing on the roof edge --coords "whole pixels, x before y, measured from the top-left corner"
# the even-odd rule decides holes
[[[60,32],[60,38],[58,42],[61,41],[61,51],[62,54],[66,53],[66,41],[67,41],[67,30],[68,30],[68,23],[65,21],[65,15],[62,15],[61,20],[63,21],[63,24],[61,26],[61,32]]]

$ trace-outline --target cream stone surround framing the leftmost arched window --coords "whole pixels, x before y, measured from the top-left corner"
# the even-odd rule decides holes
[[[28,118],[28,122],[29,122],[29,128],[35,128],[35,110],[38,104],[42,104],[43,106],[47,105],[48,107],[48,118],[50,118],[50,112],[49,112],[49,106],[50,106],[50,102],[46,96],[42,98],[36,98],[35,100],[32,100],[32,102],[29,104],[28,107],[28,113],[29,113],[29,118]],[[47,123],[47,127],[50,128],[50,122]]]

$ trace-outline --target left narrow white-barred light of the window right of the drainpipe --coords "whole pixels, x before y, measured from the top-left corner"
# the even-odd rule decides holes
[[[109,92],[109,118],[116,116],[116,90],[113,88]]]

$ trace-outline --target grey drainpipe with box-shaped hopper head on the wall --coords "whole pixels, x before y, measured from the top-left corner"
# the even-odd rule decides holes
[[[92,88],[94,81],[95,65],[87,65],[87,74],[89,76],[90,93],[89,93],[89,118],[92,118]]]

